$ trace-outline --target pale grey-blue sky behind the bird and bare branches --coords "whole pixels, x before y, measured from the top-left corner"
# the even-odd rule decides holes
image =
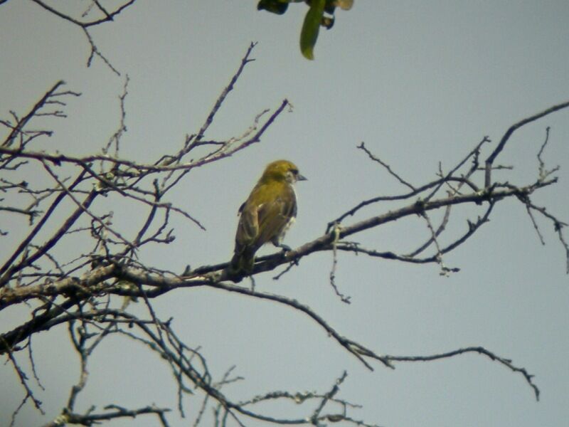
[[[174,243],[141,253],[156,267],[181,272],[188,263],[229,260],[238,206],[274,159],[292,160],[309,179],[297,186],[299,214],[285,241],[295,247],[320,236],[328,221],[358,201],[405,191],[356,149],[362,141],[405,179],[422,184],[435,179],[439,162],[450,169],[485,135],[496,144],[510,125],[569,100],[565,0],[356,0],[351,11],[338,11],[334,28],[321,31],[314,61],[302,58],[298,48],[304,5],[290,6],[284,16],[257,12],[255,5],[138,1],[115,22],[91,30],[121,76],[98,58],[86,67],[90,47],[80,28],[32,1],[0,6],[0,118],[9,118],[10,110],[25,112],[57,80],[83,94],[68,102],[68,119],[49,122],[55,135],[44,140],[46,151],[100,150],[117,129],[124,75],[129,75],[129,94],[122,156],[151,161],[176,151],[186,134],[197,132],[250,42],[258,42],[255,62],[245,68],[209,137],[242,135],[259,112],[274,110],[285,98],[294,109],[278,118],[260,144],[191,172],[170,194],[207,231],[177,218]],[[536,179],[536,154],[548,126],[544,159],[549,167],[560,165],[559,183],[534,201],[569,222],[569,110],[516,132],[501,156],[514,170],[498,176],[519,185]],[[393,206],[373,205],[346,223],[389,209]],[[466,218],[481,213],[472,206],[457,209],[449,233],[464,232]],[[0,216],[3,228],[11,218]],[[136,219],[137,212],[115,211],[115,226],[125,232]],[[565,426],[569,278],[551,223],[538,222],[546,246],[521,204],[499,204],[477,236],[445,257],[447,265],[461,269],[449,278],[439,275],[437,265],[341,253],[336,284],[351,296],[351,305],[329,285],[330,253],[302,259],[281,280],[272,280],[274,272],[255,280],[259,290],[296,298],[341,334],[380,354],[428,355],[484,346],[535,375],[539,402],[520,374],[474,354],[398,364],[395,370],[376,364],[375,371],[368,371],[306,316],[270,302],[201,289],[170,292],[154,307],[161,317],[174,317],[175,330],[188,344],[201,346],[218,379],[236,365],[235,374],[245,381],[224,389],[235,400],[272,390],[326,392],[347,370],[339,396],[362,405],[350,414],[368,423]],[[26,223],[18,227],[25,232]],[[427,236],[417,219],[351,240],[378,251],[405,252]],[[60,251],[72,255],[74,248]],[[5,256],[0,249],[1,259]],[[144,307],[133,310],[144,313]],[[22,316],[26,313],[1,312],[0,332]],[[16,426],[53,419],[78,378],[65,327],[38,334],[33,344],[46,387],[38,389],[38,396],[48,415],[42,418],[28,405]],[[135,408],[155,403],[172,408],[171,426],[193,420],[181,420],[176,412],[176,385],[166,365],[137,344],[108,339],[89,370],[78,411],[91,404]],[[9,364],[0,366],[0,384],[0,426],[7,426],[24,391]],[[186,412],[199,404],[188,397]],[[134,425],[155,426],[156,420],[110,423]]]

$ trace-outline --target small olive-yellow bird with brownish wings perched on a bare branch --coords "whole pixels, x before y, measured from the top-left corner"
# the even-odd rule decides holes
[[[250,274],[255,252],[265,243],[290,251],[282,243],[297,216],[297,195],[293,184],[306,181],[297,166],[288,160],[267,164],[265,172],[238,211],[235,251],[230,262],[233,274]]]

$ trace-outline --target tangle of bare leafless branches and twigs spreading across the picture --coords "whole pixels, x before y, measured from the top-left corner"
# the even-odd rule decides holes
[[[69,21],[83,29],[91,52],[88,59],[90,64],[95,56],[100,57],[115,73],[118,71],[99,51],[88,28],[106,21],[112,21],[117,14],[132,1],[123,1],[121,6],[110,9],[107,4],[92,0],[80,18],[68,16],[55,6],[50,6],[41,0],[33,0],[38,6]],[[0,0],[0,3],[2,1]],[[92,16],[97,16],[93,19]],[[291,251],[272,253],[256,259],[252,273],[248,275],[252,285],[245,288],[238,283],[245,277],[244,273],[228,270],[228,263],[221,262],[212,265],[201,265],[188,268],[183,275],[167,270],[167,260],[159,259],[157,266],[148,265],[143,260],[147,253],[142,248],[149,244],[169,244],[174,241],[174,221],[172,213],[176,212],[203,228],[200,222],[193,218],[189,211],[166,199],[169,191],[181,184],[188,172],[198,167],[205,167],[222,159],[227,159],[240,150],[250,147],[265,135],[266,130],[275,122],[277,117],[287,107],[292,107],[288,100],[282,100],[271,110],[262,110],[252,115],[249,126],[241,127],[235,137],[220,140],[208,135],[211,125],[218,117],[223,102],[243,75],[245,65],[250,63],[251,43],[240,60],[238,69],[230,78],[228,85],[222,90],[206,120],[197,132],[189,133],[181,138],[174,147],[164,144],[164,152],[159,159],[149,164],[135,159],[119,157],[121,138],[126,132],[126,99],[128,95],[128,76],[124,81],[122,95],[119,95],[120,111],[117,129],[100,144],[100,152],[86,156],[72,156],[68,153],[50,152],[45,149],[44,137],[53,135],[50,130],[31,130],[33,117],[66,117],[63,109],[65,100],[70,95],[80,95],[61,89],[63,82],[53,85],[23,117],[19,113],[10,112],[9,119],[0,120],[8,134],[0,145],[0,170],[6,173],[0,179],[0,199],[3,214],[15,213],[27,215],[35,222],[30,230],[23,233],[15,248],[9,249],[6,260],[0,267],[0,311],[6,307],[26,306],[28,318],[19,322],[9,331],[0,333],[0,354],[7,354],[11,367],[22,384],[23,399],[12,416],[12,423],[18,411],[30,402],[42,411],[41,402],[33,396],[31,381],[37,381],[42,388],[33,361],[31,340],[42,331],[51,331],[55,327],[68,328],[69,339],[78,354],[78,379],[70,388],[67,401],[60,415],[46,426],[58,426],[65,423],[76,423],[85,426],[94,425],[101,421],[111,421],[117,418],[135,418],[137,416],[156,416],[161,426],[168,426],[166,412],[169,408],[154,405],[128,409],[120,406],[120,402],[105,406],[98,410],[91,406],[87,411],[78,411],[78,398],[87,386],[89,373],[87,366],[95,348],[110,334],[120,339],[132,339],[142,344],[144,351],[154,354],[160,362],[165,362],[174,378],[177,391],[177,406],[180,416],[186,413],[193,416],[193,425],[204,421],[206,410],[213,409],[213,421],[216,425],[225,427],[227,423],[245,426],[250,421],[277,424],[310,424],[321,427],[327,423],[351,424],[353,426],[371,427],[372,424],[353,418],[349,413],[356,404],[351,404],[340,396],[340,388],[347,379],[344,371],[336,378],[334,384],[324,392],[304,391],[293,392],[285,390],[269,391],[254,394],[250,399],[230,399],[226,393],[229,384],[242,381],[243,377],[237,370],[223,370],[222,375],[214,376],[208,367],[206,357],[198,346],[186,344],[176,332],[172,324],[174,318],[161,319],[160,311],[156,310],[156,298],[173,292],[179,288],[190,291],[193,288],[209,288],[225,295],[247,297],[253,301],[270,301],[280,306],[289,307],[295,312],[306,316],[309,325],[317,326],[326,337],[346,351],[347,357],[354,357],[369,370],[375,365],[395,368],[398,362],[427,362],[446,359],[460,354],[476,353],[486,356],[492,361],[507,367],[516,374],[522,374],[532,387],[536,399],[539,389],[533,384],[533,376],[523,367],[512,364],[510,359],[499,357],[484,347],[465,347],[441,354],[427,356],[390,356],[356,342],[353,338],[343,335],[333,327],[318,312],[304,302],[294,298],[260,292],[255,288],[255,276],[265,271],[272,271],[281,265],[286,266],[282,274],[298,265],[299,260],[319,251],[330,251],[332,266],[329,273],[329,283],[332,290],[341,301],[349,303],[350,298],[340,292],[336,284],[336,269],[339,266],[338,251],[363,253],[375,258],[399,260],[406,263],[437,263],[442,273],[458,271],[458,268],[448,268],[443,263],[443,256],[461,246],[474,233],[489,221],[494,206],[506,199],[519,201],[531,218],[542,242],[546,234],[539,228],[538,218],[553,225],[555,233],[565,249],[569,273],[569,246],[563,234],[568,224],[551,214],[546,206],[533,203],[534,194],[557,182],[555,172],[558,167],[548,169],[542,155],[549,139],[549,128],[546,138],[537,154],[538,176],[530,184],[511,184],[509,181],[491,181],[491,171],[508,169],[504,165],[494,165],[497,156],[504,149],[506,142],[511,139],[513,132],[529,122],[538,120],[551,112],[569,106],[569,102],[551,107],[537,115],[528,117],[511,126],[499,143],[487,157],[484,168],[481,167],[482,151],[486,149],[488,137],[472,144],[473,148],[461,157],[452,167],[443,169],[442,163],[435,171],[436,179],[415,186],[405,180],[383,159],[371,153],[363,144],[358,145],[369,159],[383,167],[403,186],[403,192],[395,195],[381,195],[361,201],[349,211],[338,216],[327,224],[326,232],[316,238],[306,241]],[[245,130],[243,130],[245,129]],[[39,148],[38,148],[39,147]],[[195,150],[195,151],[193,151]],[[490,149],[488,149],[490,150]],[[124,151],[124,150],[123,150]],[[188,154],[192,152],[191,157]],[[43,176],[48,174],[48,184],[34,182],[26,174],[35,172],[43,167]],[[36,168],[36,169],[34,169]],[[448,172],[445,172],[447,170]],[[63,172],[62,172],[63,171]],[[71,171],[71,172],[68,172]],[[484,171],[484,176],[482,174]],[[64,175],[65,174],[65,175]],[[22,181],[21,176],[26,176]],[[31,173],[30,176],[33,176]],[[64,176],[70,176],[65,178]],[[479,182],[484,177],[484,188],[479,188]],[[6,194],[6,196],[4,196]],[[174,193],[171,193],[174,194]],[[119,201],[127,201],[128,209],[142,212],[140,223],[128,236],[113,226],[115,218],[113,211],[98,214],[99,201],[105,196],[113,196]],[[98,197],[103,196],[103,197]],[[93,202],[97,199],[97,210]],[[14,202],[14,200],[16,200]],[[389,209],[380,210],[381,202],[390,202]],[[68,202],[68,203],[65,203]],[[349,223],[347,219],[356,213],[363,215],[362,209],[369,207],[368,214],[357,221]],[[394,207],[395,206],[395,207]],[[458,209],[454,206],[464,206]],[[65,210],[67,209],[67,210]],[[127,210],[128,210],[127,209]],[[118,209],[117,209],[118,211]],[[449,224],[457,214],[466,214],[460,221],[466,221],[466,229],[462,232],[449,230]],[[116,214],[119,216],[124,212]],[[128,213],[127,213],[128,214]],[[477,214],[479,214],[477,216]],[[36,218],[37,217],[37,218]],[[363,236],[373,228],[395,223],[403,218],[409,221],[425,221],[429,236],[426,241],[415,242],[408,251],[383,250],[364,248],[355,241],[346,239]],[[120,218],[120,219],[124,219]],[[48,224],[49,227],[48,228]],[[204,228],[205,229],[205,228]],[[9,231],[12,231],[10,228]],[[4,231],[1,231],[4,233]],[[362,235],[363,233],[363,235]],[[454,233],[454,234],[452,234]],[[40,239],[46,239],[41,241]],[[87,241],[87,243],[83,243]],[[62,242],[82,242],[73,255],[58,255],[56,246]],[[384,244],[384,243],[382,243]],[[54,248],[56,249],[54,251]],[[388,248],[389,249],[389,248]],[[188,260],[191,262],[191,260]],[[153,261],[154,262],[154,261]],[[166,262],[166,265],[159,263]],[[184,262],[185,263],[185,262]],[[233,281],[233,283],[230,283]],[[142,300],[144,305],[129,305],[129,302]],[[120,302],[124,301],[122,305]],[[120,307],[120,308],[117,308]],[[136,308],[136,310],[133,309]],[[142,308],[143,310],[139,310]],[[144,317],[127,312],[144,312]],[[28,347],[28,358],[34,377],[30,380],[25,369],[18,364],[17,352]],[[30,377],[31,378],[31,377]],[[222,391],[223,390],[223,391]],[[184,408],[188,395],[195,395],[196,411]],[[192,396],[193,399],[193,396]],[[302,416],[272,416],[270,412],[262,411],[263,403],[286,401],[299,405]]]

